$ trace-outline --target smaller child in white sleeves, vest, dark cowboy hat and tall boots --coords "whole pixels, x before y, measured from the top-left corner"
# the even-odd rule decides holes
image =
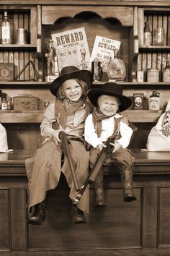
[[[89,161],[91,167],[94,165],[99,151],[105,147],[104,142],[113,135],[119,127],[119,136],[114,143],[110,143],[112,154],[111,159],[115,159],[120,169],[124,200],[130,202],[136,200],[133,194],[133,163],[135,158],[127,149],[133,129],[125,121],[120,121],[122,116],[119,112],[130,107],[130,98],[122,95],[122,86],[114,82],[107,82],[104,85],[93,86],[88,93],[89,100],[96,107],[92,114],[87,116],[85,122],[84,137],[91,145]],[[96,192],[95,205],[104,206],[104,189],[102,170],[97,175],[94,182]]]

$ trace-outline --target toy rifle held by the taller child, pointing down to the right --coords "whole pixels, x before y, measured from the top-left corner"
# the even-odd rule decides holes
[[[74,187],[75,187],[76,191],[79,191],[80,190],[79,183],[78,183],[78,180],[77,180],[77,177],[76,177],[76,172],[75,172],[74,167],[73,167],[73,161],[71,159],[71,153],[70,153],[70,150],[68,148],[68,140],[67,140],[65,132],[61,131],[59,133],[59,138],[61,140],[63,153],[68,158],[68,164],[70,166],[70,171],[71,171],[71,175],[72,175],[72,178],[73,178]]]

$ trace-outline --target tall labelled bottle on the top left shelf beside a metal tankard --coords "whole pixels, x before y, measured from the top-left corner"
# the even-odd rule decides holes
[[[7,12],[4,12],[4,17],[1,21],[1,44],[10,43],[12,43],[12,22],[8,19]]]

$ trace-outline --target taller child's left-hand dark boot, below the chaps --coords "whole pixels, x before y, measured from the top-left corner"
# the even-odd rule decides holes
[[[35,205],[35,212],[32,217],[29,218],[28,224],[41,225],[45,221],[45,208],[46,208],[46,198],[42,202]]]

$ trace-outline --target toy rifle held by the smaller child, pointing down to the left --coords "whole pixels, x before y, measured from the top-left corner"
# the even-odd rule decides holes
[[[129,127],[131,127],[133,131],[137,130],[137,127],[135,127],[135,125],[132,124],[130,121],[129,121]],[[97,174],[99,174],[99,171],[101,170],[102,165],[107,158],[107,155],[109,153],[112,153],[112,150],[114,149],[114,147],[110,145],[110,142],[112,143],[115,142],[115,138],[117,137],[117,135],[119,135],[119,131],[120,131],[120,127],[118,125],[115,133],[111,137],[109,137],[107,141],[104,143],[106,147],[102,148],[102,150],[100,151],[99,155],[97,156],[97,160],[95,161],[94,166],[91,168],[91,171],[89,171],[89,175],[87,176],[83,186],[79,190],[79,193],[76,195],[76,197],[73,198],[72,202],[74,205],[77,205],[79,203],[79,200],[81,199],[81,196],[84,194],[84,191],[87,185],[90,182],[94,182],[95,179],[97,178]]]

